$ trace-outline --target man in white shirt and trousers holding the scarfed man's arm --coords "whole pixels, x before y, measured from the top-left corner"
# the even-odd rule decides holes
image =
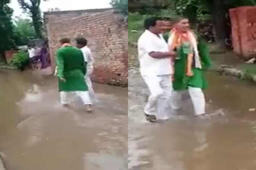
[[[149,122],[156,122],[169,118],[173,73],[170,63],[175,52],[169,52],[161,35],[160,18],[148,18],[144,26],[146,30],[138,40],[140,73],[150,91],[144,114]]]

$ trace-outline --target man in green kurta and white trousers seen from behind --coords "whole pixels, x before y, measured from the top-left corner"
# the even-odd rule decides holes
[[[88,87],[84,80],[86,62],[83,53],[70,44],[70,39],[61,39],[60,43],[61,48],[56,53],[56,61],[61,104],[63,106],[69,105],[67,94],[72,92],[82,99],[87,107],[87,112],[91,112]]]

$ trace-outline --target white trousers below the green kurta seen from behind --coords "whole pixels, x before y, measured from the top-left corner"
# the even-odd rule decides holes
[[[74,92],[60,92],[60,102],[62,105],[69,104],[68,100],[68,93],[73,93],[76,96],[79,96],[81,100],[83,101],[84,105],[91,105],[91,101],[89,98],[89,92],[88,91],[74,91]]]

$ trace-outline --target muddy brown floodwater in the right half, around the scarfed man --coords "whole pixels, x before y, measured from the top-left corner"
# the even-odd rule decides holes
[[[207,111],[195,119],[189,99],[169,121],[147,123],[147,89],[129,74],[128,168],[130,170],[255,170],[256,86],[208,73]],[[221,116],[221,115],[222,116]]]

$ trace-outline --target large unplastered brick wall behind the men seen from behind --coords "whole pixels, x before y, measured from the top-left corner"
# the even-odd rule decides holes
[[[79,17],[56,21],[47,17],[47,35],[52,67],[59,40],[84,37],[88,40],[94,61],[94,82],[126,87],[128,84],[128,28],[122,15],[114,10],[89,13]]]

